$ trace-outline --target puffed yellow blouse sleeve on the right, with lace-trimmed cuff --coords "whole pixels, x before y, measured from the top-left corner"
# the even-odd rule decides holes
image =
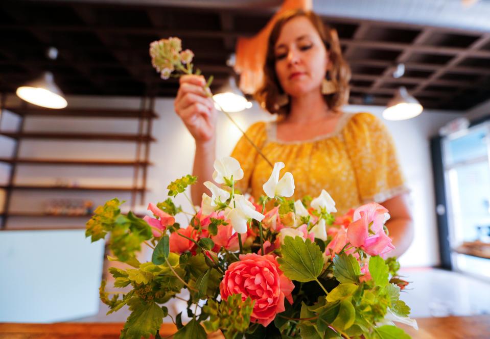
[[[345,133],[361,203],[383,202],[408,192],[393,139],[374,115],[352,117]]]

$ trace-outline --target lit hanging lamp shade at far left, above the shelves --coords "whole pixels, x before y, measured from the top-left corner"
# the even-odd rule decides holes
[[[15,93],[22,100],[37,106],[53,109],[67,106],[63,92],[56,85],[51,72],[44,72],[38,79],[17,88]]]

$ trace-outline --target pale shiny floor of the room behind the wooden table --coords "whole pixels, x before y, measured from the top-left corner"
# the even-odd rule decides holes
[[[410,281],[401,299],[411,308],[412,318],[470,316],[490,314],[490,282],[464,276],[457,272],[431,268],[408,268],[400,275]],[[168,305],[171,313],[185,309],[183,301]],[[124,322],[127,307],[107,315],[101,303],[97,315],[76,319],[76,322]],[[168,320],[170,322],[170,319]]]

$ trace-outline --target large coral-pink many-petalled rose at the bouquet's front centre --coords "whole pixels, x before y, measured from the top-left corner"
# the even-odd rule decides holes
[[[240,255],[240,261],[232,263],[220,283],[223,300],[232,294],[241,294],[242,300],[250,297],[253,304],[251,322],[269,325],[275,316],[285,311],[284,298],[292,304],[294,284],[277,264],[274,256],[255,253]]]

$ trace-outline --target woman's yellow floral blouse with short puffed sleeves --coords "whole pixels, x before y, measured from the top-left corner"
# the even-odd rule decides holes
[[[276,138],[276,122],[257,122],[246,134],[269,161],[283,162],[294,176],[294,199],[316,197],[322,189],[336,202],[337,215],[367,202],[383,202],[405,193],[403,174],[391,135],[385,125],[369,113],[340,117],[335,131],[306,141]],[[231,157],[236,158],[244,177],[237,188],[255,199],[264,195],[262,185],[272,168],[242,136]]]

